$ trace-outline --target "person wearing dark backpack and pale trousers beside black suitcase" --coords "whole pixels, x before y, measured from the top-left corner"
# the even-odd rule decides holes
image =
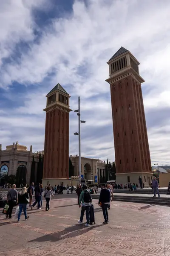
[[[82,224],[84,213],[86,213],[86,227],[90,227],[90,207],[91,207],[91,194],[88,192],[88,186],[84,186],[84,190],[81,192],[79,196],[79,208],[81,208],[81,202],[82,202],[82,210],[80,219],[78,221],[79,224]]]

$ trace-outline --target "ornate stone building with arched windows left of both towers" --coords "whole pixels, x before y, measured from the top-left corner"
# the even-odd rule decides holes
[[[44,151],[41,152],[43,155]],[[39,161],[39,152],[33,153],[32,146],[30,150],[27,150],[26,146],[19,145],[18,142],[13,145],[6,146],[5,150],[2,150],[0,144],[0,179],[6,175],[15,175],[19,183],[36,182],[36,180],[30,180],[31,177],[31,164],[34,156],[35,161],[35,177],[37,177],[37,164]],[[0,184],[2,186],[2,184]]]

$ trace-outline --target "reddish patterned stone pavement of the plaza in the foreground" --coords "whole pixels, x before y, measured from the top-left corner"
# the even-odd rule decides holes
[[[0,256],[170,256],[169,207],[113,201],[103,225],[93,200],[96,224],[85,227],[75,196],[57,195],[20,223],[0,214]]]

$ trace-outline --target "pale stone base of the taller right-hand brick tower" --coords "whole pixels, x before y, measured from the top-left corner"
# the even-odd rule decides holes
[[[116,173],[116,184],[138,183],[139,186],[139,176],[142,178],[144,187],[150,187],[152,182],[153,173],[152,172],[129,172],[129,173]],[[129,177],[129,178],[128,178]]]

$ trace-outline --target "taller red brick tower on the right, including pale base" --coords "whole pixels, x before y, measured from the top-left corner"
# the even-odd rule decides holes
[[[152,168],[144,115],[139,61],[121,47],[108,61],[116,183],[151,182]]]

